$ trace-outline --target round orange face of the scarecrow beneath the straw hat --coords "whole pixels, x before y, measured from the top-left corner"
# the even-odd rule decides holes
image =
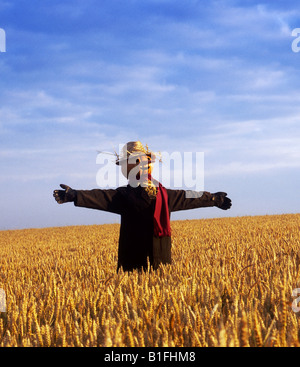
[[[123,175],[128,179],[129,174],[132,171],[133,175],[136,175],[137,180],[147,180],[148,175],[151,175],[153,170],[153,162],[151,157],[146,154],[141,154],[138,157],[130,156],[126,163],[121,166]]]

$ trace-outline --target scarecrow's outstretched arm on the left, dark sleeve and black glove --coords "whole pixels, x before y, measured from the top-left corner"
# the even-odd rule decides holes
[[[120,214],[122,197],[118,190],[74,190],[66,185],[61,187],[64,190],[55,190],[53,193],[59,204],[74,202],[75,206]]]

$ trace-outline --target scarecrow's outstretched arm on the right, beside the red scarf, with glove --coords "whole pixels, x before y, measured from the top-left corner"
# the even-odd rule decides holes
[[[208,191],[167,190],[168,204],[171,212],[195,208],[213,207],[227,210],[231,200],[225,192],[211,194]]]

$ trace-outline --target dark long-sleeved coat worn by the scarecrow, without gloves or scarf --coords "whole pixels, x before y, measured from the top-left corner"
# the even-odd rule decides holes
[[[117,189],[76,190],[76,206],[104,210],[121,215],[118,249],[118,269],[124,271],[156,269],[160,263],[171,263],[171,237],[153,236],[155,199],[150,199],[144,188],[130,185]],[[212,194],[186,198],[186,191],[167,189],[169,213],[214,206]]]

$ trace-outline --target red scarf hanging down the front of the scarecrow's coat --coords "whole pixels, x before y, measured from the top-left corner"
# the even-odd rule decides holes
[[[171,237],[168,193],[161,183],[157,187],[153,223],[155,237]]]

